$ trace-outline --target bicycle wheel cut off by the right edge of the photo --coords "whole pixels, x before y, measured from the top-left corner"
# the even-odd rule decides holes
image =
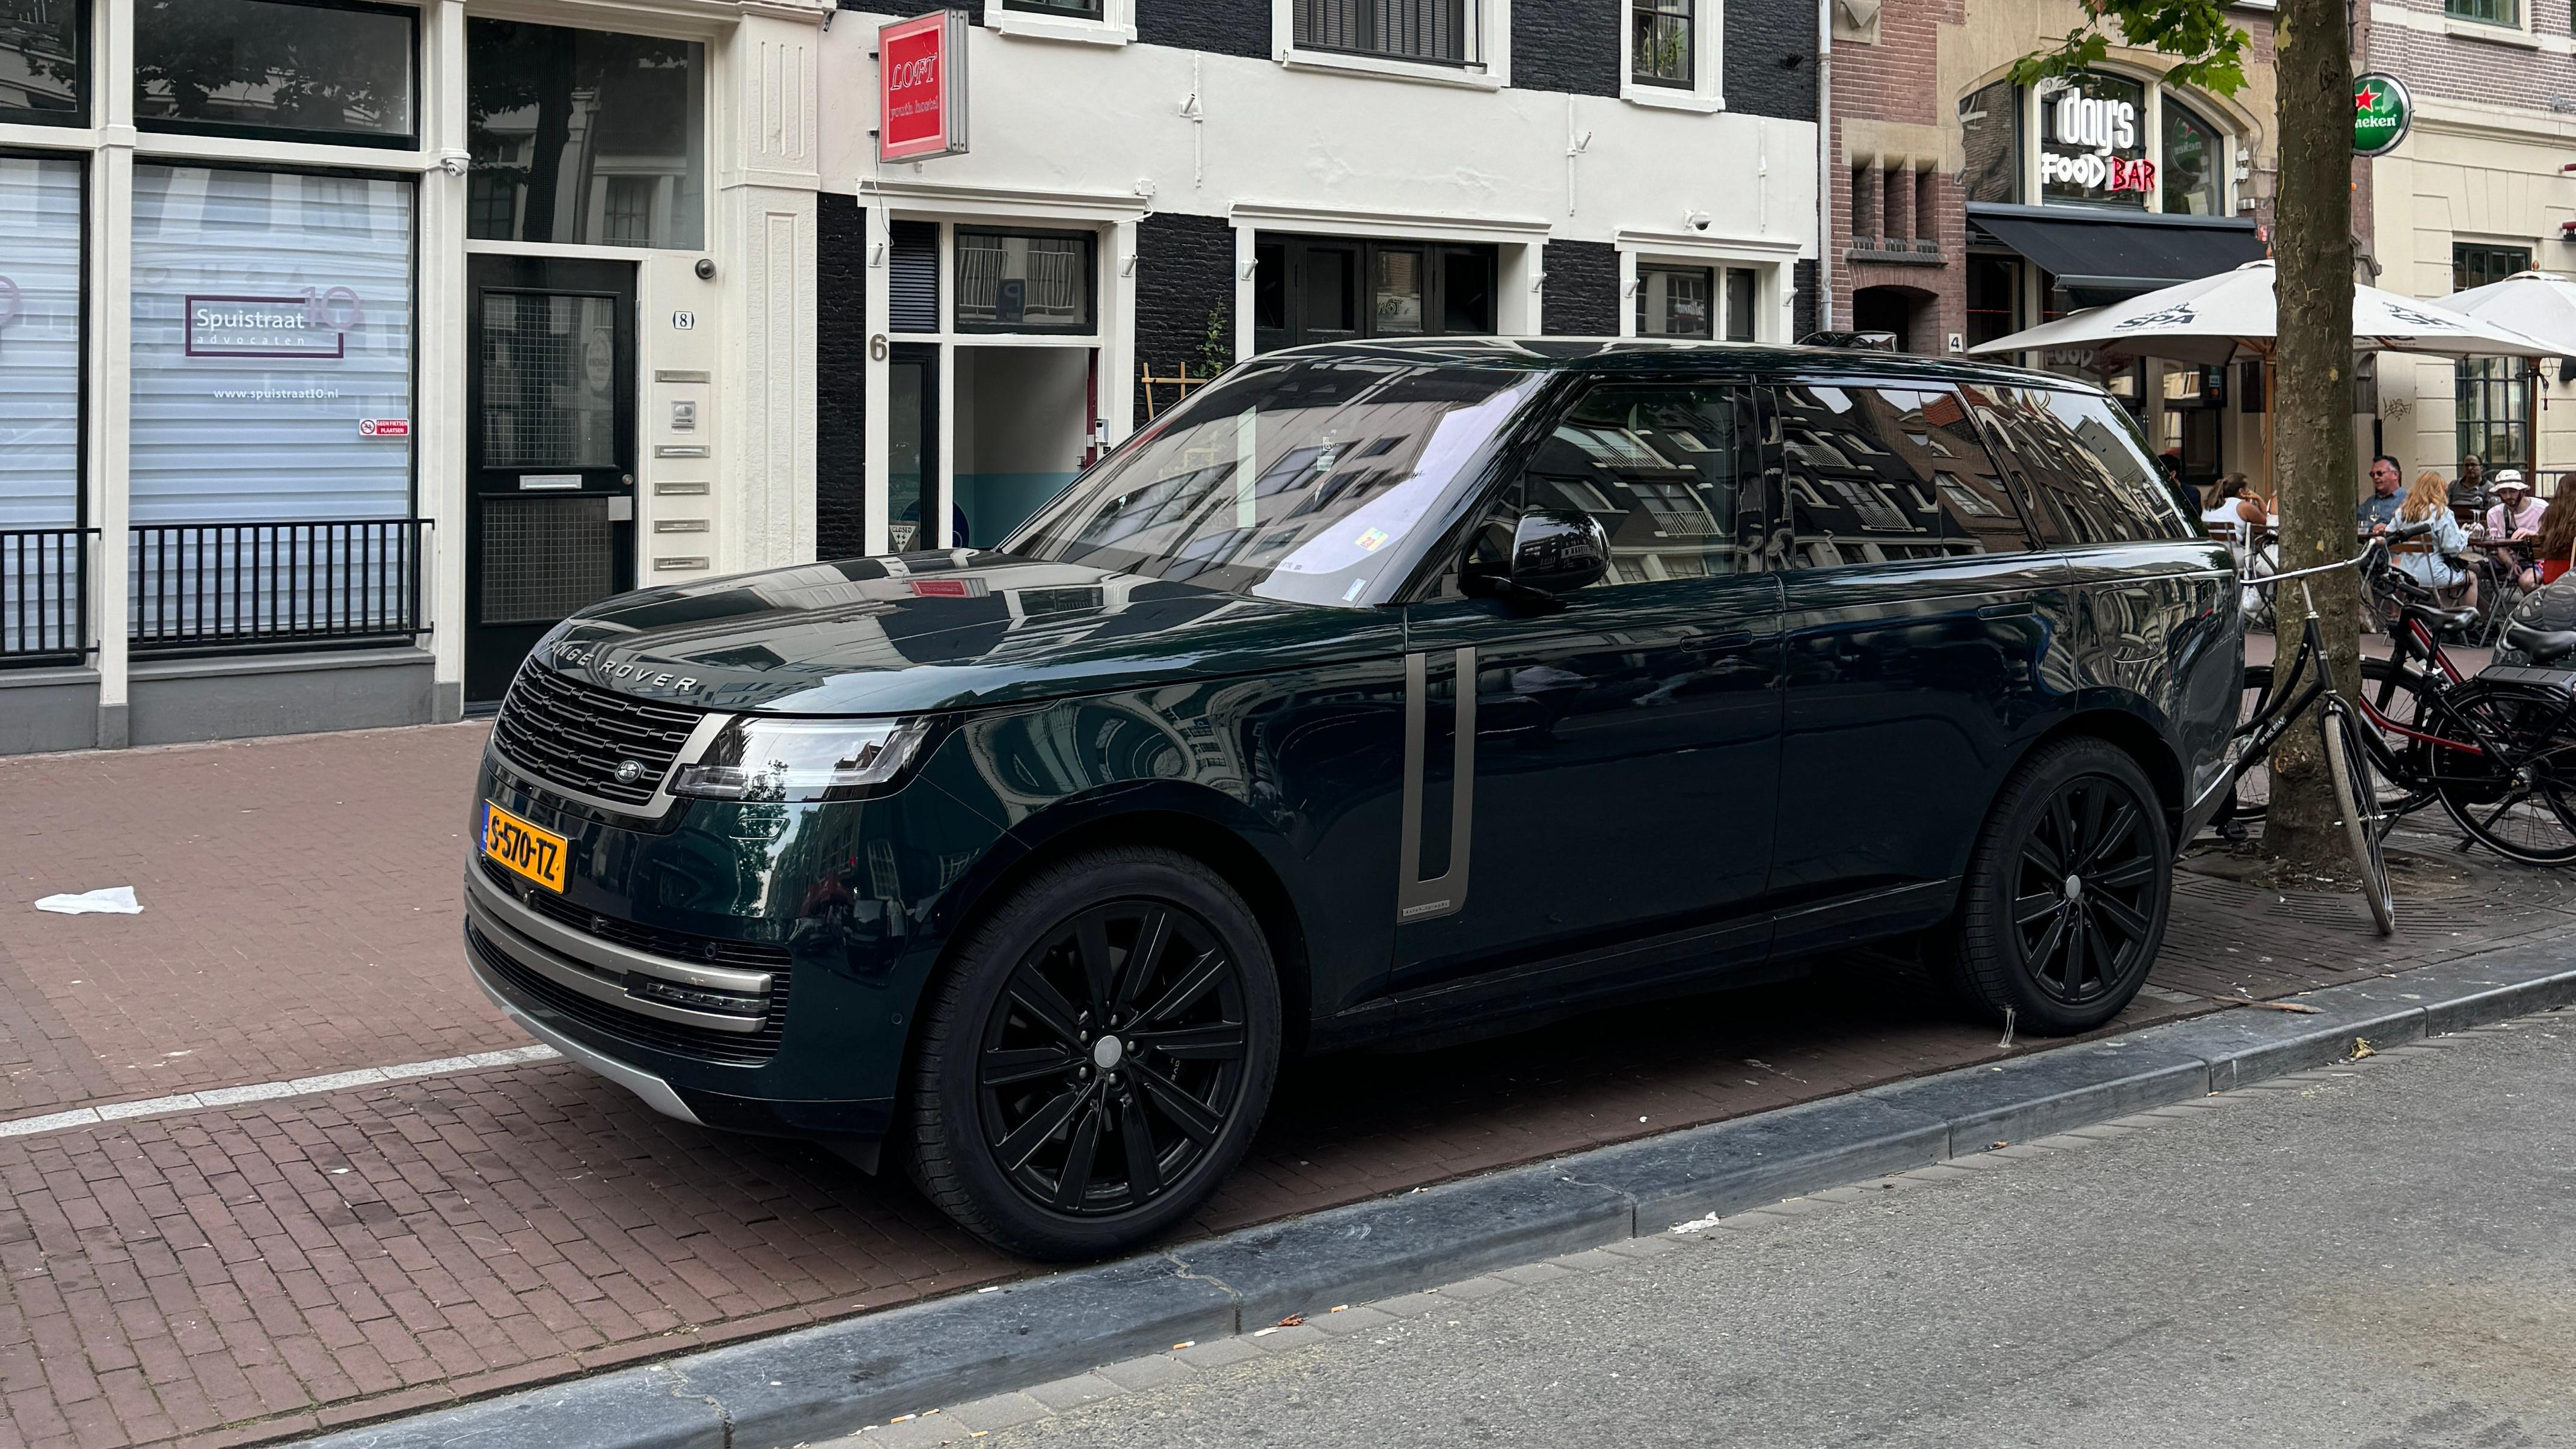
[[[2566,701],[2553,691],[2468,681],[2445,704],[2473,717],[2504,750],[2501,758],[2432,750],[2442,810],[2470,841],[2509,861],[2576,861],[2576,732]]]

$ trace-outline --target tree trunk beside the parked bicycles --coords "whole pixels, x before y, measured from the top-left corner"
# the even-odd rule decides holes
[[[2352,36],[2347,0],[2280,0],[2280,397],[2272,446],[2280,477],[2280,567],[2349,559],[2357,472],[2352,459]],[[2306,593],[2300,593],[2300,583]],[[2275,637],[2282,668],[2316,598],[2339,686],[2360,688],[2360,580],[2331,570],[2285,583]],[[2280,678],[2280,676],[2275,676]],[[2303,866],[2349,866],[2342,812],[2318,732],[2293,727],[2272,750],[2264,846]]]

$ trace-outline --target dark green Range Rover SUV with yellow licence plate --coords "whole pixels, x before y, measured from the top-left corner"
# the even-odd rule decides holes
[[[466,949],[654,1109],[1092,1256],[1285,1052],[1914,936],[2079,1031],[2215,810],[2226,549],[2058,376],[1662,343],[1262,356],[992,552],[652,588],[520,668]]]

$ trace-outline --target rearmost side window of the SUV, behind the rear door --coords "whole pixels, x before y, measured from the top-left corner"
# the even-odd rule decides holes
[[[2097,392],[1973,387],[1996,446],[2038,495],[2050,544],[2133,544],[2200,534],[2120,407]]]

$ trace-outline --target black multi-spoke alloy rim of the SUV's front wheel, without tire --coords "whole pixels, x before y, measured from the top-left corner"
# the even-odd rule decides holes
[[[1059,923],[984,1021],[984,1147],[1038,1207],[1133,1212],[1216,1147],[1244,1093],[1244,972],[1180,905]]]

